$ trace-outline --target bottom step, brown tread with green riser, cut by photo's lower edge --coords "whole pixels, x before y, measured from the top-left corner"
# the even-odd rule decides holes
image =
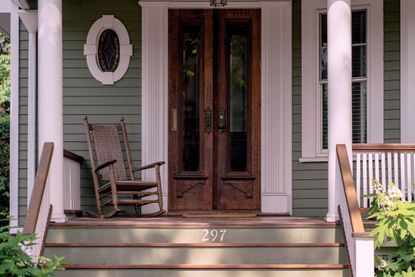
[[[68,265],[57,276],[83,277],[349,277],[349,265],[337,264],[226,264],[226,265]]]

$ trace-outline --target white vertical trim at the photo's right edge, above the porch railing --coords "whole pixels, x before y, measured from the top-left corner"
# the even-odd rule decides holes
[[[401,0],[401,142],[415,143],[415,1]]]

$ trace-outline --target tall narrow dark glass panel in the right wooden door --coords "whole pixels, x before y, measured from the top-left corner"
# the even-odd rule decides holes
[[[230,170],[247,170],[248,24],[229,26]]]

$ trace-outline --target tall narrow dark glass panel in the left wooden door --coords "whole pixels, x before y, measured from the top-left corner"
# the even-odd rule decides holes
[[[200,167],[199,98],[200,98],[200,27],[184,26],[182,40],[182,170]]]

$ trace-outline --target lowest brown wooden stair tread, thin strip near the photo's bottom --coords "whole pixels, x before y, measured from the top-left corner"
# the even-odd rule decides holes
[[[347,269],[349,264],[68,264],[67,269]]]

